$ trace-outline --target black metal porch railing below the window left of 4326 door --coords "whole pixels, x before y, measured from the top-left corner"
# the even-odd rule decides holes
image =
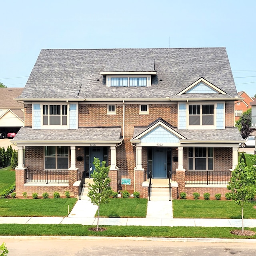
[[[28,170],[26,182],[35,183],[67,183],[68,170]]]

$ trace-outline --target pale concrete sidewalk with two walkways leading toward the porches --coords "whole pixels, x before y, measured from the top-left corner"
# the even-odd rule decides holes
[[[148,202],[146,218],[100,218],[100,225],[110,226],[187,226],[187,227],[242,227],[241,219],[178,219],[172,218],[172,202]],[[165,209],[165,213],[161,210]],[[82,224],[94,226],[97,206],[78,200],[68,217],[0,217],[0,224]],[[256,228],[256,219],[244,220],[244,227]]]

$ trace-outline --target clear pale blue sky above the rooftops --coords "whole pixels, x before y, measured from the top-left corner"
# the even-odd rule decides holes
[[[46,48],[225,46],[237,90],[256,94],[255,0],[2,0],[0,10],[8,87],[25,86]]]

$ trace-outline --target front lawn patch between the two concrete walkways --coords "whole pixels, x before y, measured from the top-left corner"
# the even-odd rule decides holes
[[[110,203],[100,206],[100,217],[146,218],[147,205],[145,198],[111,198]]]

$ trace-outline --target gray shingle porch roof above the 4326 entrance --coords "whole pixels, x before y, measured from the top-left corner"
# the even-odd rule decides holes
[[[32,130],[22,127],[13,142],[118,142],[121,127],[81,127],[78,130]]]

